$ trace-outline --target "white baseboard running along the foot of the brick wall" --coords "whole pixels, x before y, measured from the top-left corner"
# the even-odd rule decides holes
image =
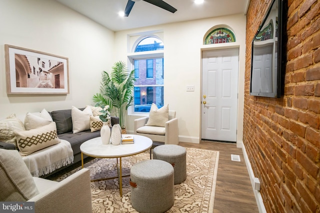
[[[263,200],[262,200],[262,196],[261,196],[259,191],[254,189],[254,185],[255,185],[255,182],[253,180],[254,179],[254,174],[253,174],[253,170],[252,170],[248,155],[246,154],[246,150],[245,150],[243,141],[236,142],[236,147],[242,149],[242,153],[243,153],[246,169],[248,170],[248,173],[249,173],[251,187],[252,187],[252,190],[253,190],[253,193],[254,193],[254,197],[255,197],[256,204],[258,206],[259,213],[266,213],[266,210],[265,210],[265,207],[264,207],[264,204],[263,204]]]

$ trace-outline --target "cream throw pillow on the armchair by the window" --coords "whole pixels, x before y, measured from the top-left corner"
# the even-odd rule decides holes
[[[169,120],[169,106],[168,104],[162,106],[160,109],[152,103],[148,122],[146,126],[165,127],[165,122]]]

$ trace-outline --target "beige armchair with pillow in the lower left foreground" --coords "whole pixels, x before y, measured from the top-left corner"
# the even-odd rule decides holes
[[[17,150],[0,149],[0,201],[34,202],[36,213],[92,213],[88,169],[60,182],[32,177]]]

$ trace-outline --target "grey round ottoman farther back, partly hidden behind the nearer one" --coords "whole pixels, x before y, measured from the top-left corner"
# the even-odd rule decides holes
[[[166,161],[174,169],[174,184],[186,179],[186,151],[184,147],[173,144],[157,146],[153,149],[153,159]]]

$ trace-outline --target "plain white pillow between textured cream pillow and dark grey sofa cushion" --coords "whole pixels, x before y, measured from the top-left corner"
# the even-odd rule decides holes
[[[43,127],[52,122],[50,114],[43,109],[41,112],[29,113],[27,112],[24,118],[25,130],[31,130],[39,127]]]

